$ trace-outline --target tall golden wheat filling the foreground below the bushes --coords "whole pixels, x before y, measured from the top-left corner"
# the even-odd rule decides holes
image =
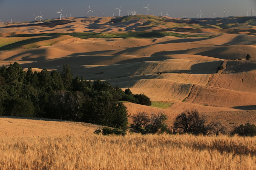
[[[255,169],[256,137],[54,135],[1,138],[0,169]]]

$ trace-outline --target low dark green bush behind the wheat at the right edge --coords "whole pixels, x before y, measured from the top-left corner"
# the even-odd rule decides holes
[[[256,136],[256,126],[249,122],[245,125],[241,124],[239,126],[235,126],[231,134],[238,134],[240,136]]]

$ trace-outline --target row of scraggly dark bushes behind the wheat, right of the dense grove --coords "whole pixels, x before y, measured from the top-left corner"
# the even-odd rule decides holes
[[[199,114],[197,110],[186,110],[180,113],[174,119],[173,126],[168,128],[166,121],[168,117],[163,113],[152,113],[148,116],[145,112],[131,116],[134,132],[147,133],[178,133],[178,134],[194,134],[194,135],[219,135],[227,134],[227,129],[222,125],[217,117],[208,120],[208,116]],[[256,126],[249,122],[245,125],[234,126],[229,134],[240,136],[256,136]]]

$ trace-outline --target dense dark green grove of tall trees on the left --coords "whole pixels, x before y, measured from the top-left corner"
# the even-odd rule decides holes
[[[0,69],[0,115],[44,117],[127,127],[127,111],[121,100],[143,103],[144,94],[125,93],[108,82],[73,78],[70,66],[57,71],[27,72],[17,63]],[[141,98],[143,98],[141,100]],[[150,101],[150,100],[149,100]]]

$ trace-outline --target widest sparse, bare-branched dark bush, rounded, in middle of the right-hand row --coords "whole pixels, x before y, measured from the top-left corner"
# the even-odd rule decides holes
[[[174,133],[191,133],[203,135],[218,135],[219,133],[225,134],[226,128],[217,121],[217,117],[206,124],[205,115],[199,115],[197,110],[186,110],[175,118],[173,125]]]

